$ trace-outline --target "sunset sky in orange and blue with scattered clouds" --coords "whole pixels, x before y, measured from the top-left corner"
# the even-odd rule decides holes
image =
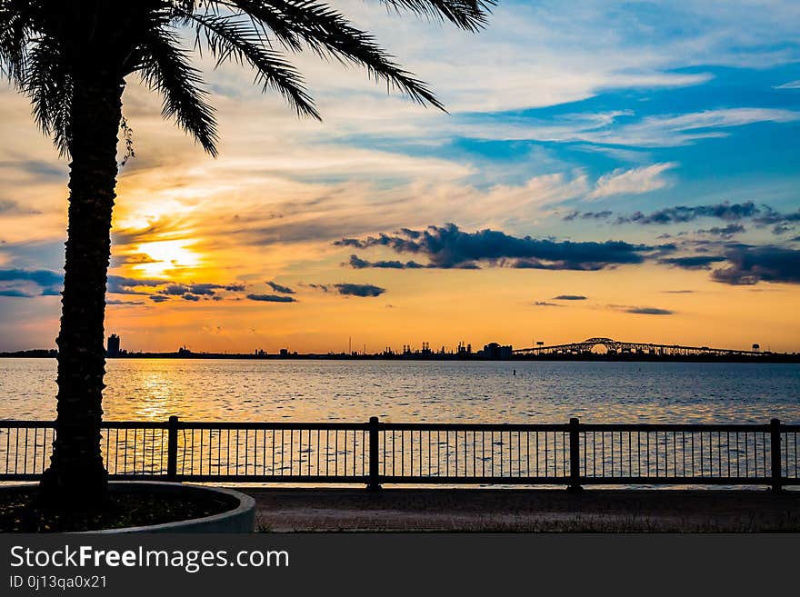
[[[332,3],[444,101],[293,56],[324,122],[196,56],[220,155],[128,80],[106,333],[133,351],[800,351],[800,4]],[[55,347],[67,163],[0,84],[0,351]]]

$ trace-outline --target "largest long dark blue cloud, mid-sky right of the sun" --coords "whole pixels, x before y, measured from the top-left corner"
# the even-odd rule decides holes
[[[455,224],[429,226],[425,231],[401,230],[365,239],[345,238],[338,246],[384,246],[397,253],[423,254],[427,267],[471,268],[476,262],[497,266],[547,270],[594,271],[619,264],[641,264],[645,254],[671,247],[628,244],[623,241],[571,242],[511,236],[495,230],[466,233]],[[357,258],[356,258],[357,259]]]

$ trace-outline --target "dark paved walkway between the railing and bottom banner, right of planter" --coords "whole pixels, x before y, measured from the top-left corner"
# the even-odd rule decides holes
[[[259,530],[800,532],[800,492],[239,488]]]

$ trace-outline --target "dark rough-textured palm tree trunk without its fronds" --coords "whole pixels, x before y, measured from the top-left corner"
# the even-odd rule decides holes
[[[58,345],[55,442],[41,490],[45,502],[105,502],[100,452],[105,374],[105,284],[111,254],[117,132],[125,82],[92,74],[75,84],[69,224]]]

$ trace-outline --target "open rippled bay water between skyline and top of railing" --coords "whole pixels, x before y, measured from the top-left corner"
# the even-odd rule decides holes
[[[127,359],[106,369],[105,418],[117,421],[800,423],[796,363]],[[55,360],[0,359],[0,419],[54,417]]]

